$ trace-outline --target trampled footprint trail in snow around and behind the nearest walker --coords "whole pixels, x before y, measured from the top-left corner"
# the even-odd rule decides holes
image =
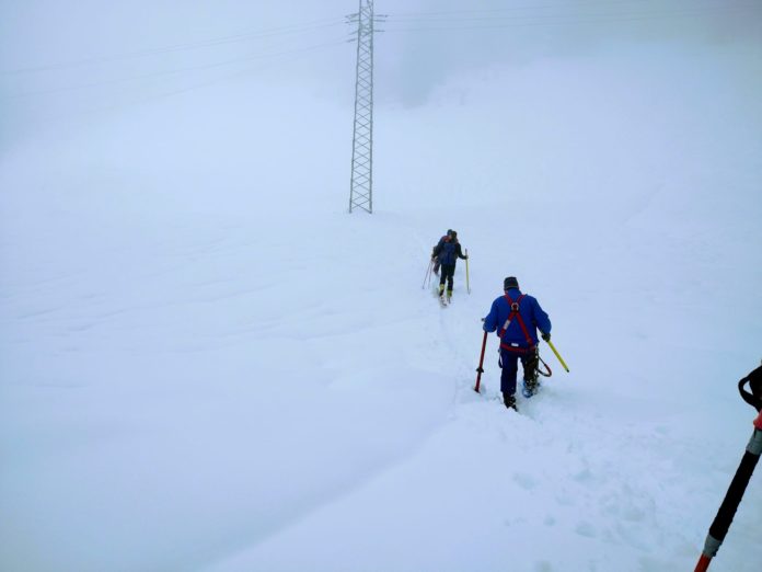
[[[458,278],[457,273],[457,281]],[[458,289],[458,286],[455,288]],[[669,430],[662,423],[623,425],[605,415],[604,409],[594,415],[584,415],[564,408],[557,399],[556,387],[574,384],[574,376],[563,370],[555,356],[552,357],[555,362],[553,376],[543,380],[541,393],[528,400],[517,391],[519,415],[532,422],[530,426],[523,427],[528,434],[523,438],[531,443],[531,446],[517,445],[516,434],[508,428],[509,416],[516,413],[505,410],[498,390],[499,366],[494,334],[487,336],[485,374],[482,376],[483,396],[477,397],[476,401],[473,392],[475,379],[466,380],[466,374],[470,373],[469,363],[477,364],[481,346],[472,342],[472,339],[475,340],[482,333],[481,322],[474,323],[474,317],[486,314],[488,305],[478,312],[475,302],[467,295],[460,296],[458,301],[440,313],[447,352],[454,356],[452,362],[459,379],[459,405],[455,415],[469,424],[477,424],[480,434],[496,433],[500,435],[504,444],[511,444],[509,448],[518,447],[518,451],[510,451],[513,456],[522,457],[530,447],[536,446],[557,455],[551,456],[551,461],[542,464],[532,459],[526,470],[515,471],[510,476],[520,490],[533,496],[547,494],[558,477],[562,482],[568,483],[564,490],[555,491],[549,502],[540,503],[545,507],[554,506],[545,517],[544,524],[549,527],[561,525],[562,528],[574,530],[582,539],[603,545],[626,545],[633,550],[633,560],[630,564],[619,562],[619,570],[667,570],[673,565],[670,559],[674,558],[676,552],[683,558],[685,554],[692,554],[696,544],[693,536],[685,538],[674,534],[663,537],[655,536],[653,533],[665,528],[663,523],[655,522],[653,515],[661,513],[662,517],[679,523],[685,504],[690,503],[690,495],[683,489],[681,470],[677,464],[669,457],[653,457],[649,453],[676,449],[683,445],[669,435]],[[547,347],[544,348],[544,353],[550,354]],[[547,355],[544,357],[549,359]],[[475,377],[475,374],[472,374],[472,377]],[[492,387],[495,389],[489,389]],[[473,409],[474,403],[497,409],[506,420],[492,414],[486,417],[489,421],[480,419]],[[575,426],[574,441],[563,437],[566,424]],[[607,438],[602,439],[601,435],[607,435]],[[584,437],[581,441],[580,436]],[[693,449],[694,455],[701,455],[697,447]],[[601,462],[601,459],[607,460]],[[640,472],[643,467],[649,468],[645,484],[632,482],[632,474]],[[547,474],[552,474],[552,479],[547,479]],[[654,494],[655,490],[662,494]],[[506,506],[506,514],[510,512]],[[579,517],[579,513],[587,516]],[[532,516],[530,511],[521,516],[513,516],[513,519],[526,523]],[[603,520],[607,524],[594,525],[591,520]],[[655,557],[655,549],[662,556]],[[669,549],[672,550],[672,554],[669,553]],[[574,569],[593,571],[598,570],[599,564],[603,562],[590,562],[589,568]],[[536,570],[567,569],[554,568],[549,561],[536,561],[533,565]]]

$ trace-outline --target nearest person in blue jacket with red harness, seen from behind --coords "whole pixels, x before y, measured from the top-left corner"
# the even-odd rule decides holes
[[[551,319],[540,302],[521,294],[519,281],[509,276],[503,283],[505,294],[496,298],[484,319],[484,331],[500,339],[500,391],[507,408],[516,410],[516,377],[519,361],[523,368],[523,394],[531,397],[538,388],[538,329],[542,339],[551,340]]]

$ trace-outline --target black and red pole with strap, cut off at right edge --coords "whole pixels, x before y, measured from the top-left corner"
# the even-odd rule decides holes
[[[706,572],[709,568],[712,559],[717,554],[717,550],[723,545],[725,540],[725,535],[728,534],[730,524],[732,523],[732,517],[736,515],[738,505],[741,503],[746,488],[749,484],[751,474],[754,471],[757,461],[760,460],[760,454],[762,454],[762,402],[759,401],[762,398],[760,389],[762,389],[762,367],[758,367],[754,371],[749,374],[747,377],[741,379],[739,384],[739,391],[741,391],[741,397],[747,400],[747,397],[741,390],[742,385],[746,381],[751,380],[752,389],[757,389],[754,398],[755,409],[759,407],[759,414],[754,421],[754,433],[749,439],[746,453],[741,458],[741,462],[736,470],[736,474],[730,481],[730,487],[728,492],[725,494],[723,504],[719,505],[719,511],[717,511],[717,516],[715,516],[712,526],[709,527],[709,534],[706,535],[706,541],[704,542],[704,550],[698,558],[696,563],[695,572]],[[757,386],[754,386],[757,384]],[[748,401],[748,400],[747,400]],[[751,403],[751,402],[750,402]]]

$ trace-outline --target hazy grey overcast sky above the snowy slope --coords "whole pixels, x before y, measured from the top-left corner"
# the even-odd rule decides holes
[[[344,20],[357,9],[351,0],[2,0],[0,127],[241,78],[349,104],[355,52]],[[490,66],[645,42],[762,46],[762,0],[379,0],[376,12],[388,15],[376,41],[377,102],[411,107]]]

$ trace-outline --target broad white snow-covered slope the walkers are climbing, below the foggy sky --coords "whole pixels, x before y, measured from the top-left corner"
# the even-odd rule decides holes
[[[19,145],[1,568],[690,569],[762,357],[757,54],[549,60],[378,108],[372,216],[344,211],[350,111],[261,87]],[[472,293],[461,263],[440,309],[447,228]],[[520,414],[494,338],[471,389],[506,275],[572,369],[543,348]],[[717,571],[759,570],[758,477]]]

